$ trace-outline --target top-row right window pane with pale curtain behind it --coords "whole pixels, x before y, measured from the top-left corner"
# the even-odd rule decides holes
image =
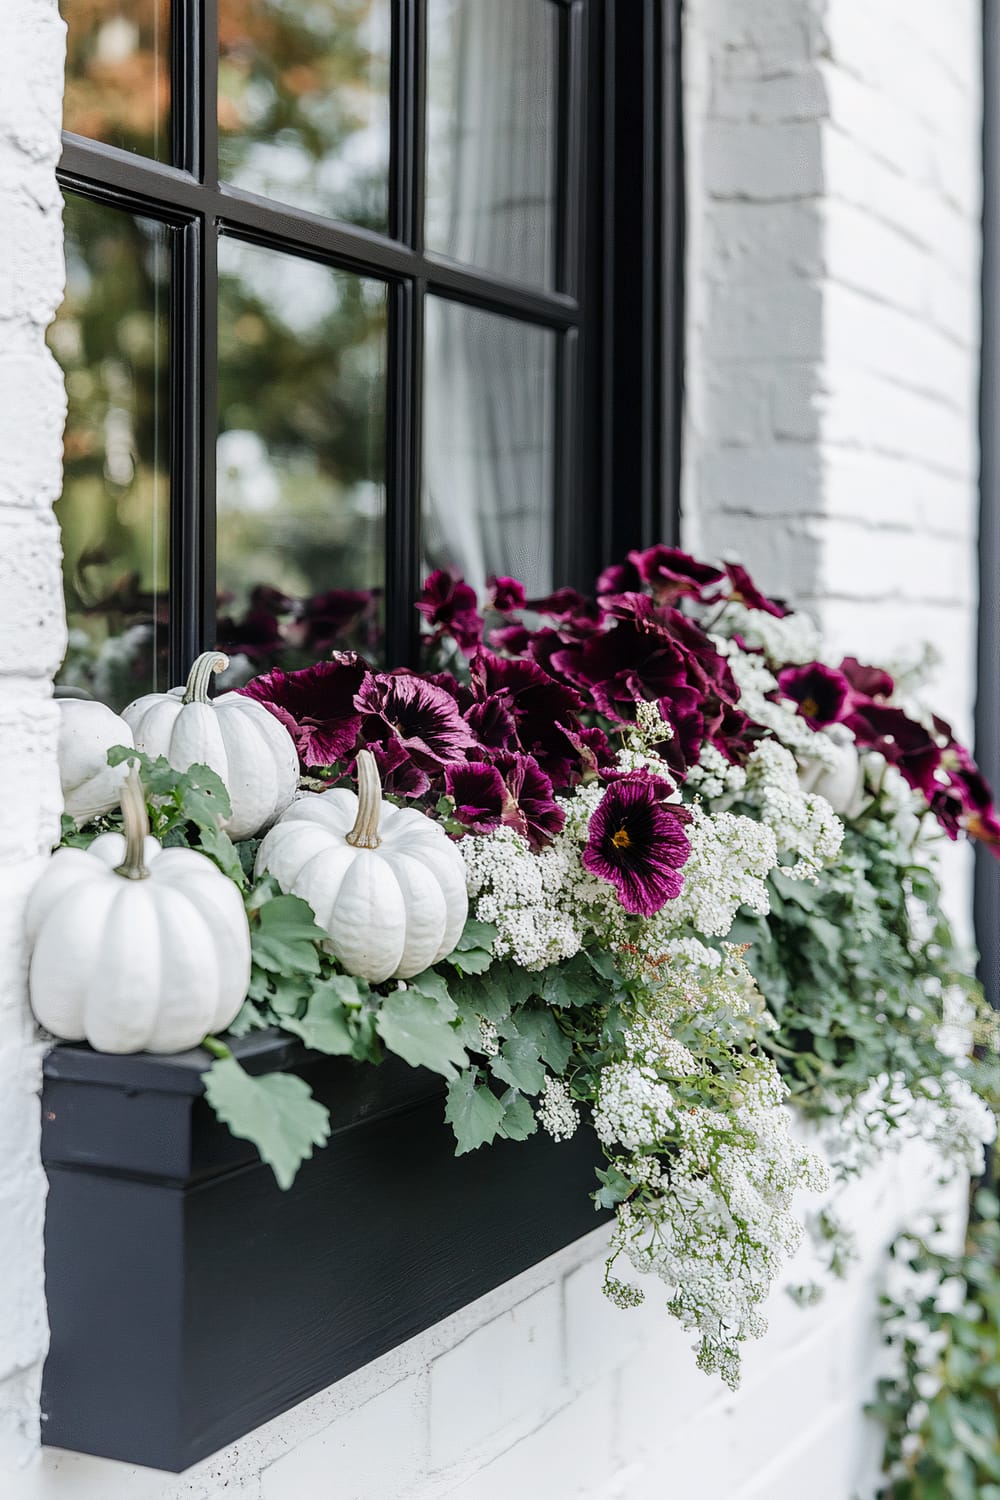
[[[552,286],[558,66],[549,0],[429,0],[427,249]]]

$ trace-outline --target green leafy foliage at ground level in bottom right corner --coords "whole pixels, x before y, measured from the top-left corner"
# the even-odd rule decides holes
[[[897,1372],[871,1413],[886,1428],[882,1500],[1000,1500],[1000,1224],[976,1196],[964,1254],[903,1238],[906,1287],[883,1299]]]

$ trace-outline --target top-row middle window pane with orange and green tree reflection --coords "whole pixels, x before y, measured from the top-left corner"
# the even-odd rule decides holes
[[[390,0],[219,0],[219,176],[388,224]]]

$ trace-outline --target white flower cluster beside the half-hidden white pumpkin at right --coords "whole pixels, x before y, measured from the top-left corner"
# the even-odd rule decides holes
[[[783,874],[816,880],[840,854],[844,825],[825,796],[802,790],[795,756],[777,740],[762,740],[747,760],[745,796],[774,830],[780,852],[798,855]]]

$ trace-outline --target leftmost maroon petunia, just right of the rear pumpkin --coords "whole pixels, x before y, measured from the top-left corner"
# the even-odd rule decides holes
[[[268,672],[237,688],[270,708],[289,730],[306,766],[333,765],[354,748],[361,728],[355,696],[367,676],[352,651],[301,672]]]

